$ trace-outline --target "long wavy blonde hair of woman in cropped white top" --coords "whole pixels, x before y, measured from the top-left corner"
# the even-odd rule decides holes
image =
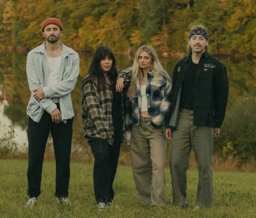
[[[140,55],[140,52],[148,52],[148,55],[150,55],[151,60],[152,60],[152,76],[156,77],[156,80],[159,80],[159,75],[161,74],[161,72],[164,72],[163,66],[161,65],[157,54],[154,50],[154,48],[152,48],[150,45],[143,45],[141,46],[134,57],[134,62],[133,62],[133,66],[132,66],[132,78],[131,78],[131,84],[130,87],[128,89],[128,93],[127,96],[129,98],[132,98],[132,96],[134,96],[134,93],[137,91],[137,82],[141,81],[143,78],[143,71],[139,66],[138,63],[138,57]]]

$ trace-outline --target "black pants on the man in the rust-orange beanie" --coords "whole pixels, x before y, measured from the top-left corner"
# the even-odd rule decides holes
[[[70,178],[70,152],[72,124],[74,117],[67,123],[52,122],[51,115],[44,112],[40,122],[28,120],[28,196],[38,197],[41,193],[42,166],[44,152],[51,131],[56,160],[56,197],[68,196]]]

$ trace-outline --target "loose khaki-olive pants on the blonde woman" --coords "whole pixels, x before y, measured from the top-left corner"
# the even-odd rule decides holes
[[[147,125],[150,118],[141,117],[132,126],[131,165],[137,192],[148,205],[166,205],[165,192],[165,128]]]

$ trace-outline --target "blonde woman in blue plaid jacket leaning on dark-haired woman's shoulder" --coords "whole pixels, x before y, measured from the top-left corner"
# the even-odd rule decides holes
[[[121,92],[127,85],[125,142],[131,149],[136,189],[148,205],[164,206],[166,137],[163,121],[170,107],[171,80],[152,47],[140,47],[132,68],[118,72],[116,91]]]

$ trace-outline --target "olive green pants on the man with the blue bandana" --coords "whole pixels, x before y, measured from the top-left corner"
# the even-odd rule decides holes
[[[194,126],[193,110],[182,109],[177,130],[172,134],[170,170],[172,175],[173,204],[179,207],[187,202],[187,170],[189,154],[193,148],[198,169],[196,206],[211,207],[214,204],[212,187],[212,127]]]

